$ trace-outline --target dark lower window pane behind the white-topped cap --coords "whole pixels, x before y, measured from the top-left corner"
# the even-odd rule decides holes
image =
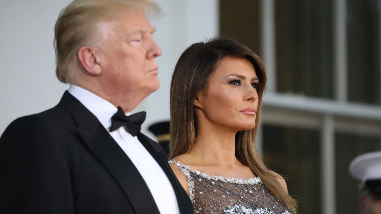
[[[336,210],[361,213],[359,182],[349,174],[349,163],[360,154],[381,150],[381,139],[344,133],[336,133],[335,138]]]

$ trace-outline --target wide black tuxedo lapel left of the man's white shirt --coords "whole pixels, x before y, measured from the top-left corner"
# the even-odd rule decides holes
[[[160,214],[138,169],[98,119],[67,92],[58,105],[72,114],[78,123],[76,130],[78,135],[114,177],[131,202],[136,214]]]

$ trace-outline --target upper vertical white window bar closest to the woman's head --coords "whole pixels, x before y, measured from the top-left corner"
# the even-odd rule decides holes
[[[266,92],[275,93],[276,75],[275,75],[275,1],[261,0],[261,51],[260,56],[266,65]]]

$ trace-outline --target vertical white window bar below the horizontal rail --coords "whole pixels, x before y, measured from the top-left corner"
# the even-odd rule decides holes
[[[322,213],[336,214],[335,185],[335,121],[332,115],[325,115],[320,137],[321,147],[321,201]]]

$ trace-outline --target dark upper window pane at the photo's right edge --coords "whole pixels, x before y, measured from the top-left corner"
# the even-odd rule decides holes
[[[347,1],[348,100],[380,103],[378,0]]]

